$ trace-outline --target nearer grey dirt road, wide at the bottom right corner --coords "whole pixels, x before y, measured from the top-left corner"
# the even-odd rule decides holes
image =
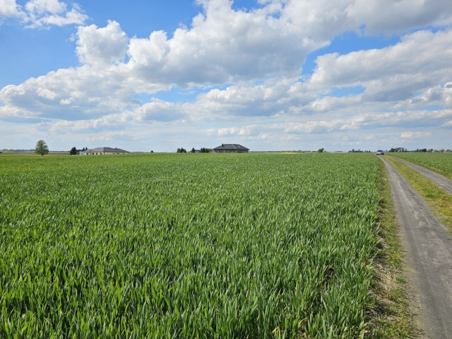
[[[452,338],[452,241],[430,207],[390,162],[390,180],[401,241],[425,338]]]

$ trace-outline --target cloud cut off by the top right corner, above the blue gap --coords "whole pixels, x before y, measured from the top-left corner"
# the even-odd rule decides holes
[[[452,23],[452,4],[448,0],[276,0],[272,3],[283,5],[283,20],[292,22],[305,36],[316,40],[330,40],[354,30],[368,35],[392,35]]]

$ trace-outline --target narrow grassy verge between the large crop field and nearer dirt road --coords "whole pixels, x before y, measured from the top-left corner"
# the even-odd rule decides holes
[[[380,161],[380,248],[374,267],[377,279],[372,286],[374,305],[369,310],[371,322],[368,338],[413,338],[418,329],[413,324],[408,285],[401,270],[403,253],[397,234],[390,183]]]

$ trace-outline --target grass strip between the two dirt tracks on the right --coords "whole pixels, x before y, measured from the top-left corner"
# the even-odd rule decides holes
[[[432,208],[434,215],[441,223],[448,226],[449,232],[452,234],[452,195],[401,162],[389,160],[410,182],[411,186],[420,192]]]

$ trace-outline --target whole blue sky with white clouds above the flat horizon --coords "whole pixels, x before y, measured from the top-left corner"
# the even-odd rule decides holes
[[[0,0],[0,149],[452,149],[450,0]]]

